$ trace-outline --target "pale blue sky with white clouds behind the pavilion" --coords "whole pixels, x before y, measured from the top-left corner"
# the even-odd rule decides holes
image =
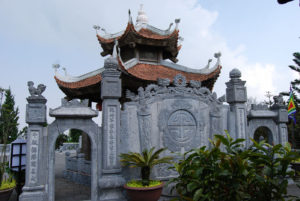
[[[293,64],[292,53],[300,51],[297,0],[285,5],[276,0],[1,0],[0,87],[15,94],[21,127],[27,81],[47,85],[48,108],[58,107],[64,94],[53,79],[52,64],[74,76],[102,67],[92,26],[112,33],[125,29],[128,9],[135,20],[141,3],[149,24],[158,28],[181,18],[179,64],[202,68],[215,52],[222,52],[223,69],[215,85],[219,96],[233,68],[242,71],[248,96],[259,101],[266,91],[288,90],[289,82],[299,77],[287,67]]]

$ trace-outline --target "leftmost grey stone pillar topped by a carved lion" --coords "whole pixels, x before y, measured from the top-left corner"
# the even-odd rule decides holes
[[[29,85],[30,82],[28,82]],[[32,88],[33,88],[33,82]],[[39,85],[40,86],[40,85]],[[38,86],[38,88],[39,88]],[[44,86],[44,85],[43,85]],[[33,88],[35,89],[35,88]],[[29,91],[32,90],[29,88]],[[27,132],[27,155],[26,155],[26,183],[20,201],[46,201],[46,158],[43,149],[44,133],[46,132],[46,102],[41,93],[33,94],[27,98],[26,123]]]

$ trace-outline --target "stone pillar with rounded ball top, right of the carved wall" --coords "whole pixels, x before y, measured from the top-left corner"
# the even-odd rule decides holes
[[[238,69],[230,71],[230,81],[226,83],[226,100],[230,105],[229,112],[229,133],[235,138],[246,139],[245,145],[249,140],[247,131],[247,90],[246,81],[242,81],[241,72]]]

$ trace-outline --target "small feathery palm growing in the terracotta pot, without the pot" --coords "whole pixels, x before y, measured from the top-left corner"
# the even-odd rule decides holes
[[[142,154],[137,152],[129,152],[128,154],[120,154],[121,162],[123,166],[129,166],[131,168],[140,167],[141,168],[141,177],[143,186],[148,186],[150,183],[150,173],[151,169],[161,163],[171,163],[173,157],[165,156],[159,158],[160,153],[162,153],[165,148],[161,148],[157,151],[154,151],[155,147],[152,147],[150,150],[144,149]]]

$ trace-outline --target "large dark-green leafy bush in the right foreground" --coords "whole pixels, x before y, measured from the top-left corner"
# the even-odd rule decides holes
[[[179,176],[170,182],[180,195],[177,200],[284,200],[286,177],[294,173],[287,167],[299,155],[288,146],[254,140],[244,149],[244,139],[226,135],[215,135],[211,149],[193,149],[174,164]]]

